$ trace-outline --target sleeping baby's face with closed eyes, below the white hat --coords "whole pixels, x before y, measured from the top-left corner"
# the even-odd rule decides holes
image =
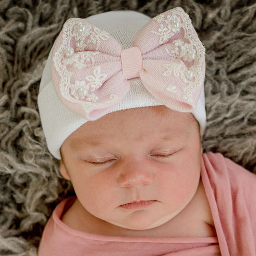
[[[133,230],[179,214],[200,179],[199,127],[189,115],[162,106],[121,110],[73,132],[61,146],[61,172],[86,212]]]

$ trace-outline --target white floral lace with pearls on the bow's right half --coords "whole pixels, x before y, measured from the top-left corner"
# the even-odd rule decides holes
[[[180,77],[187,84],[183,88],[183,99],[191,103],[194,92],[204,81],[201,64],[204,61],[205,48],[195,36],[189,16],[185,12],[181,12],[180,8],[174,8],[165,12],[165,14],[160,14],[154,20],[158,22],[159,28],[158,31],[151,32],[159,36],[159,44],[166,43],[175,33],[183,30],[183,38],[172,40],[172,44],[169,44],[171,46],[165,48],[171,59],[182,61],[164,64],[163,67],[166,71],[162,75]],[[192,65],[187,67],[184,63],[185,61],[190,62]],[[168,85],[166,89],[174,93],[176,92],[176,87],[174,87]]]

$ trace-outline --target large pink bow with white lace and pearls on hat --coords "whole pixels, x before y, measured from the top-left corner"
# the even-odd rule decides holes
[[[158,101],[182,112],[195,110],[205,77],[205,49],[189,16],[174,8],[151,19],[122,45],[84,19],[69,19],[53,49],[52,81],[64,105],[96,120],[140,77]]]

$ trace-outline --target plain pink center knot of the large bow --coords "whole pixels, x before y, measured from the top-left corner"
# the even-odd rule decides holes
[[[122,74],[124,79],[132,79],[140,76],[143,62],[140,49],[135,46],[121,50]]]

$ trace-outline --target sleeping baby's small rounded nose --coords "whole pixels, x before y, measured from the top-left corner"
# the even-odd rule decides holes
[[[133,162],[123,166],[119,176],[119,183],[122,187],[135,187],[149,185],[153,182],[153,172],[148,166],[140,162]]]

